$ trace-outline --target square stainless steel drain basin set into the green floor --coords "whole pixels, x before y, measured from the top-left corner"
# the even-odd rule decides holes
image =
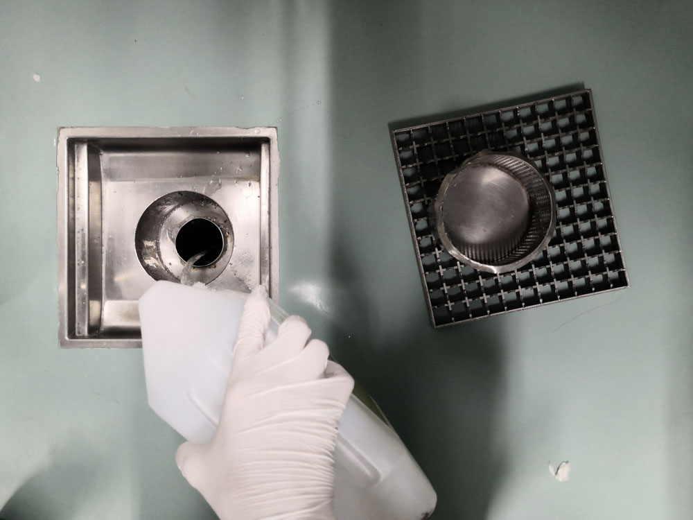
[[[157,279],[279,297],[275,128],[60,128],[60,347],[141,347]]]

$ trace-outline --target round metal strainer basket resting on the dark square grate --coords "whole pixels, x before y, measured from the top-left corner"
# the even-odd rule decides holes
[[[434,211],[448,253],[486,272],[527,265],[556,227],[553,188],[527,159],[509,152],[484,150],[448,173]]]

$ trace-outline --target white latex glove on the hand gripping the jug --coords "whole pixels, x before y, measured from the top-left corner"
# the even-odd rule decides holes
[[[337,426],[353,379],[297,316],[263,348],[269,324],[258,288],[243,309],[216,434],[182,444],[176,462],[221,520],[334,519]]]

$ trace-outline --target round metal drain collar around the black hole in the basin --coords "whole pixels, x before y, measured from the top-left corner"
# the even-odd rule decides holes
[[[207,266],[193,266],[191,281],[209,284],[231,261],[234,231],[229,217],[211,198],[194,191],[175,191],[158,198],[144,211],[135,231],[137,257],[155,280],[180,281],[185,261],[176,249],[179,231],[192,220],[209,220],[219,228],[224,245],[218,258]]]

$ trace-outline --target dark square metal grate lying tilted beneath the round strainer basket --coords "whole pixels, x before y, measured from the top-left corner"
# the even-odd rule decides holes
[[[629,286],[593,107],[587,89],[392,131],[434,327]],[[527,266],[498,275],[459,263],[433,234],[443,178],[489,149],[527,157],[556,192],[556,231],[547,248]]]

